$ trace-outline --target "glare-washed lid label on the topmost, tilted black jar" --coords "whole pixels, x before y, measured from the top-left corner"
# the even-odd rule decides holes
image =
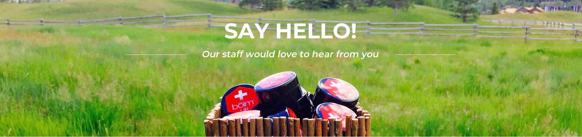
[[[255,89],[258,91],[269,90],[269,88],[289,82],[289,80],[291,80],[294,76],[295,73],[290,71],[276,73],[274,75],[265,77],[265,79],[262,79],[260,82],[258,82],[255,86]]]

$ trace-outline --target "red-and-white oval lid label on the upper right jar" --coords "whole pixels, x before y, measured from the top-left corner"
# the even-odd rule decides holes
[[[352,100],[360,96],[358,90],[352,84],[335,78],[326,79],[324,83],[319,83],[319,86],[327,90],[334,97]]]

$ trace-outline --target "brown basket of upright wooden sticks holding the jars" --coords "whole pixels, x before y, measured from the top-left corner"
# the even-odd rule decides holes
[[[221,104],[214,105],[206,120],[206,136],[370,136],[371,115],[357,103],[357,116],[346,115],[346,130],[336,119],[294,119],[292,117],[223,119]]]

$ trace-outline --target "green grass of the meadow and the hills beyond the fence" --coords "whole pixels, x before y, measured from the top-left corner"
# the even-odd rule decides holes
[[[136,1],[128,2],[123,7],[138,7],[132,6]],[[400,12],[410,16],[395,18],[385,8],[362,13],[342,9],[253,13],[208,2],[229,9],[213,12],[175,8],[199,5],[196,2],[151,2],[168,5],[168,12],[160,14],[218,12],[265,18],[340,20],[345,16],[371,21],[459,23],[446,11],[424,6]],[[43,4],[17,6],[38,9],[34,6]],[[11,6],[1,3],[0,9]],[[423,9],[434,12],[414,12]],[[98,12],[101,10],[22,17],[95,19],[150,13],[141,8],[129,10],[140,13]],[[59,16],[67,13],[70,16]],[[0,136],[203,136],[204,116],[228,88],[255,84],[282,71],[296,72],[301,86],[311,92],[323,77],[352,83],[360,91],[362,106],[374,117],[373,136],[582,133],[580,42],[524,43],[523,39],[471,36],[420,39],[418,35],[307,40],[272,39],[269,36],[273,34],[268,34],[267,39],[226,39],[224,35],[222,28],[206,27],[0,28]],[[201,53],[205,50],[370,51],[379,52],[380,57],[203,58]]]

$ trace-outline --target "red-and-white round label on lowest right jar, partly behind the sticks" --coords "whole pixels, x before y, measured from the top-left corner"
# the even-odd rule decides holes
[[[336,120],[342,120],[342,129],[346,129],[346,115],[351,114],[352,117],[356,117],[356,113],[345,106],[338,105],[336,103],[329,103],[329,105],[321,106],[319,108],[321,111],[322,119],[327,120],[330,118],[335,118]]]

